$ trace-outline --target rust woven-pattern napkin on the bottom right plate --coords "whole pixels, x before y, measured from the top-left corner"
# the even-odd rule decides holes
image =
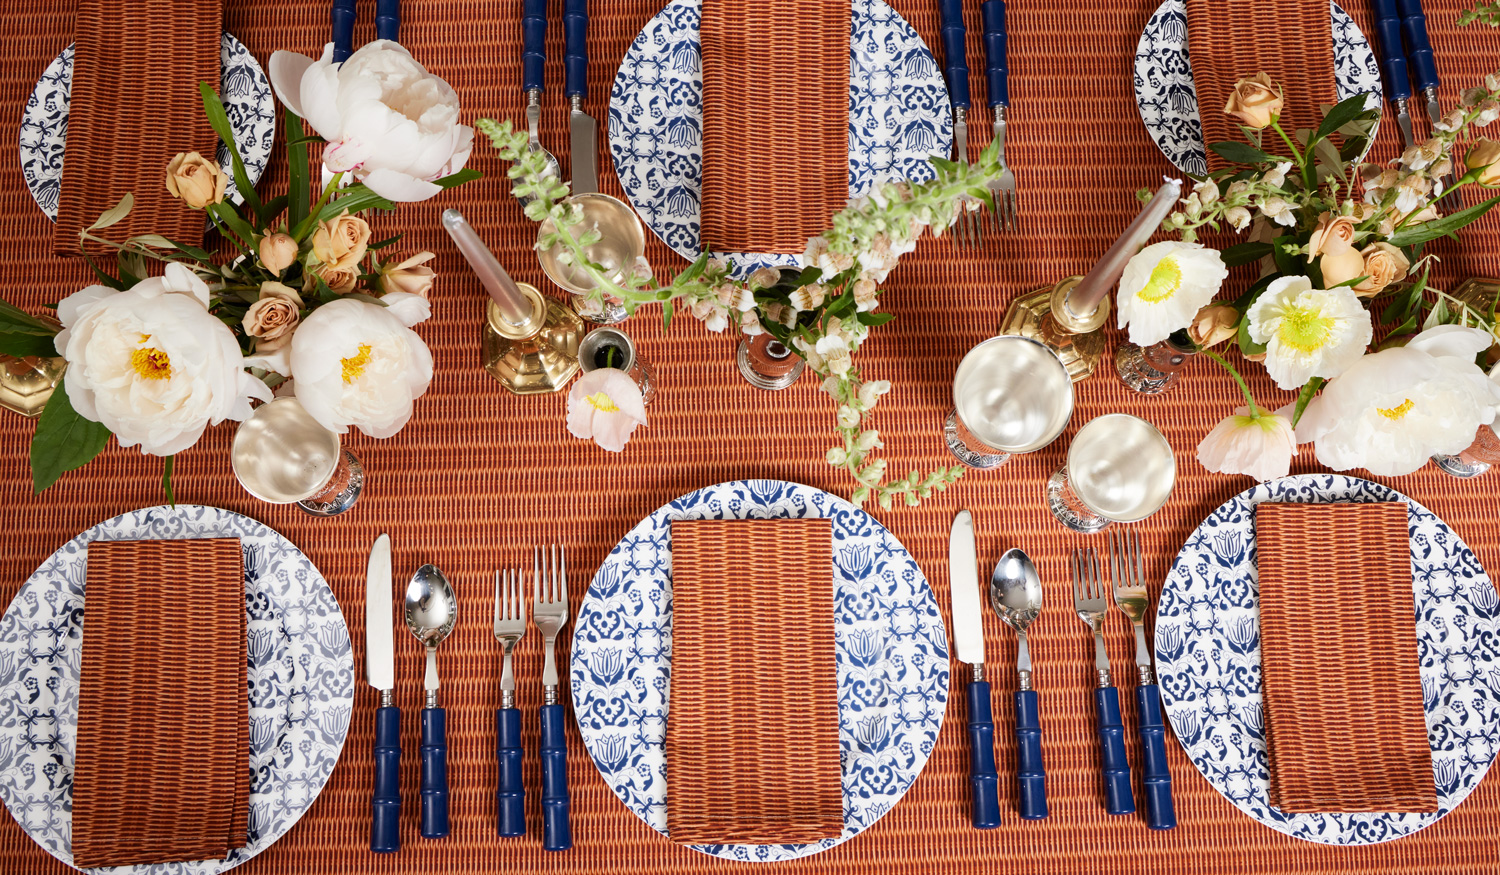
[[[1407,506],[1258,504],[1270,804],[1434,812]]]

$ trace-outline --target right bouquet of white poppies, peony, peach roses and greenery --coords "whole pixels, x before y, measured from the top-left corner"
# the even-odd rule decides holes
[[[1198,446],[1210,471],[1286,476],[1298,444],[1312,443],[1334,470],[1407,474],[1434,453],[1464,450],[1496,417],[1500,387],[1480,369],[1494,312],[1431,288],[1434,257],[1422,249],[1500,201],[1440,215],[1458,206],[1444,200],[1452,191],[1500,185],[1500,143],[1474,138],[1458,155],[1472,129],[1500,119],[1500,74],[1389,164],[1360,161],[1378,117],[1378,99],[1368,101],[1350,98],[1316,131],[1287,132],[1281,89],[1266,74],[1240,80],[1224,111],[1248,141],[1210,146],[1230,167],[1198,180],[1162,222],[1179,240],[1146,246],[1120,279],[1119,321],[1134,344],[1180,332],[1174,344],[1228,369],[1245,398]],[[1221,225],[1248,230],[1248,242],[1224,251],[1196,242]],[[1214,302],[1232,267],[1257,263],[1245,294]],[[1372,347],[1377,327],[1386,338]],[[1230,339],[1296,399],[1260,407],[1214,350]]]

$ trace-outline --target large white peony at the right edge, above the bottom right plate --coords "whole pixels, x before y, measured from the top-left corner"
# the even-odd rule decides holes
[[[1462,452],[1500,402],[1500,386],[1474,365],[1490,339],[1479,329],[1442,326],[1362,357],[1308,404],[1298,440],[1314,441],[1318,461],[1335,471],[1382,476]]]

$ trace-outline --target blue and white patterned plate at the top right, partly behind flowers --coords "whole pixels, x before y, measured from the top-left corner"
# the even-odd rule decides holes
[[[1340,9],[1338,3],[1330,0],[1330,6],[1338,99],[1372,95],[1374,105],[1378,105],[1380,65],[1376,63],[1376,53],[1370,50],[1370,42],[1354,20]],[[1254,72],[1246,71],[1245,75]],[[1192,66],[1188,63],[1186,0],[1166,0],[1140,33],[1140,42],[1136,44],[1136,104],[1140,108],[1140,120],[1146,123],[1146,131],[1167,161],[1184,173],[1194,176],[1208,173],[1198,96],[1192,90]],[[1218,107],[1210,108],[1218,110]]]

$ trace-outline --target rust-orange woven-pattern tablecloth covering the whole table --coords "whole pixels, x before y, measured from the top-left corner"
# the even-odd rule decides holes
[[[1428,27],[1443,75],[1442,99],[1500,66],[1500,33],[1488,27],[1455,29],[1466,0],[1426,0]],[[928,45],[938,42],[938,5],[892,0]],[[950,239],[922,240],[884,285],[882,309],[896,320],[882,326],[860,351],[868,378],[892,380],[872,426],[880,429],[884,458],[892,471],[952,464],[942,444],[942,420],[952,398],[952,374],[974,344],[990,336],[1005,305],[1058,278],[1077,275],[1108,248],[1137,213],[1134,191],[1155,186],[1172,168],[1150,143],[1132,96],[1131,59],[1140,29],[1158,0],[1059,6],[1052,0],[1011,0],[1006,24],[1011,45],[1011,111],[1006,158],[1020,186],[1020,227],[986,234],[982,249],[960,251]],[[72,39],[66,0],[0,5],[0,143],[15,143],[21,110],[36,78]],[[562,81],[560,6],[548,29],[548,80]],[[660,0],[612,0],[590,5],[590,81],[585,102],[596,119],[608,117],[608,86],[630,41],[662,9]],[[1359,26],[1371,32],[1365,3],[1350,5]],[[969,57],[982,57],[976,3],[964,5]],[[374,5],[360,3],[356,42],[375,38]],[[465,117],[520,119],[519,0],[405,0],[402,42],[417,59],[446,77],[464,101]],[[276,48],[315,54],[328,36],[327,0],[228,0],[225,27],[264,65]],[[970,60],[970,66],[974,66]],[[978,78],[975,78],[978,83]],[[560,90],[544,99],[542,137],[552,150],[567,149],[567,102]],[[975,113],[974,153],[984,146],[988,114]],[[1420,126],[1420,122],[1418,122]],[[1395,125],[1384,125],[1374,156],[1389,159],[1400,144]],[[284,147],[272,158],[261,191],[285,191]],[[658,393],[651,422],[636,431],[622,453],[608,453],[568,437],[566,398],[516,398],[480,371],[480,323],[484,293],[442,231],[444,207],[458,206],[512,275],[538,288],[548,284],[531,252],[536,227],[508,194],[504,167],[476,144],[471,167],[486,179],[429,203],[404,206],[394,218],[376,218],[376,234],[404,231],[404,249],[430,249],[440,273],[434,318],[418,332],[432,347],[435,378],[417,401],[411,425],[376,441],[358,434],[350,449],[366,465],[360,503],[336,519],[315,519],[290,506],[250,498],[230,471],[230,423],[176,462],[178,501],[207,503],[248,513],[284,533],[322,570],[344,606],[354,641],[356,668],[364,641],[364,563],[381,531],[394,545],[398,578],[424,561],[436,563],[458,587],[459,624],[442,644],[442,704],[448,708],[448,776],[453,834],[429,842],[418,836],[417,761],[422,708],[422,648],[402,635],[396,654],[396,704],[402,722],[402,849],[369,852],[375,692],[357,684],[344,755],[316,804],[284,839],[237,869],[244,875],[334,875],[362,872],[549,872],[588,875],[744,873],[747,866],[717,861],[660,836],[640,822],[604,786],[574,729],[568,729],[568,777],[574,848],[542,849],[542,819],[530,801],[524,839],[495,834],[495,716],[500,705],[500,647],[488,623],[494,569],[530,564],[531,546],[560,539],[568,545],[568,579],[580,599],[592,570],[620,537],[662,504],[706,483],[738,477],[800,480],[837,494],[848,479],[824,461],[834,428],[834,408],[804,377],[784,392],[747,386],[734,366],[735,341],[705,332],[680,314],[668,330],[660,312],[646,308],[622,327],[644,360],[656,366]],[[609,161],[600,164],[600,188],[621,195]],[[1473,198],[1468,200],[1473,203]],[[15,161],[0,161],[0,297],[32,312],[90,282],[78,261],[46,255],[50,222],[32,203]],[[1228,245],[1212,236],[1209,245]],[[1500,275],[1500,215],[1464,233],[1464,242],[1430,246],[1443,261],[1434,282],[1452,288],[1464,276]],[[646,257],[658,275],[686,261],[650,239]],[[1226,296],[1239,294],[1250,269],[1238,269]],[[1110,338],[1118,338],[1112,333]],[[1246,369],[1257,398],[1270,407],[1292,401],[1260,368]],[[1220,795],[1192,767],[1176,740],[1167,743],[1179,827],[1164,833],[1140,818],[1104,813],[1100,791],[1098,738],[1094,719],[1094,644],[1068,609],[1072,588],[1068,551],[1090,543],[1066,533],[1047,513],[1044,480],[1062,464],[1068,441],[1089,419],[1108,411],[1144,416],[1178,449],[1178,486],[1172,501],[1138,524],[1152,596],[1197,524],[1226,498],[1251,485],[1248,477],[1208,474],[1194,458],[1197,441],[1240,404],[1233,381],[1212,362],[1192,360],[1180,387],[1160,398],[1132,398],[1112,374],[1077,387],[1068,432],[1050,447],[1017,456],[998,471],[970,473],[952,489],[922,504],[876,516],[912,551],[948,605],[948,528],[960,507],[974,512],[981,566],[1010,546],[1024,548],[1038,564],[1046,608],[1030,627],[1034,683],[1041,690],[1042,753],[1052,816],[1022,822],[1016,815],[1016,752],[1008,696],[1014,674],[1016,635],[993,615],[984,617],[987,654],[994,680],[996,755],[1004,822],[976,831],[969,822],[968,737],[964,702],[952,695],[942,734],[921,777],[891,812],[837,848],[777,864],[798,875],[1065,875],[1098,873],[1234,873],[1300,875],[1306,872],[1422,873],[1500,872],[1500,779],[1490,776],[1454,813],[1420,833],[1374,846],[1330,848],[1300,842],[1266,828]],[[27,576],[69,537],[123,510],[159,504],[160,461],[134,449],[108,449],[81,471],[66,474],[40,497],[32,495],[27,444],[34,423],[0,413],[0,603],[8,603]],[[1294,471],[1320,470],[1311,455]],[[1500,569],[1500,519],[1496,495],[1500,474],[1454,480],[1434,468],[1383,479],[1446,519],[1490,569]],[[1106,624],[1110,657],[1130,665],[1130,624],[1112,612]],[[560,645],[567,645],[572,626]],[[566,653],[566,651],[564,651]],[[960,668],[958,663],[954,663]],[[528,800],[542,794],[536,708],[542,702],[542,642],[530,635],[516,654],[518,704],[524,710]],[[1120,698],[1130,702],[1130,675]],[[568,705],[572,710],[572,705]],[[1140,773],[1136,714],[1125,707],[1126,750]],[[68,869],[33,843],[9,816],[0,816],[0,872],[62,875]]]

